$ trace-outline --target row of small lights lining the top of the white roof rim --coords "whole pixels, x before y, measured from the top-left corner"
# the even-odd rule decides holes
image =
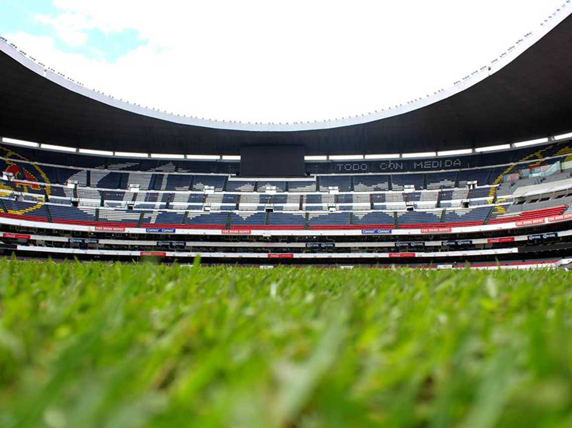
[[[554,17],[560,12],[560,10],[561,10],[562,8],[568,6],[569,3],[570,3],[570,1],[571,1],[571,0],[566,0],[566,3],[564,3],[564,4],[563,4],[560,8],[558,8],[553,14],[549,15],[549,17],[547,17],[543,22],[541,22],[541,26],[545,25],[545,23],[549,22],[550,19],[554,18]],[[517,45],[519,45],[520,43],[522,43],[523,41],[525,41],[525,39],[528,38],[528,37],[530,37],[532,34],[533,34],[532,31],[530,31],[529,33],[525,34],[523,38],[518,39],[518,41],[515,43],[515,45],[510,46],[509,49],[507,49],[506,52],[502,53],[499,58],[493,59],[493,60],[491,61],[491,65],[494,65],[496,62],[498,62],[499,59],[506,57],[506,55],[508,55],[513,49],[515,49],[515,47],[517,47]],[[26,54],[24,51],[19,50],[18,47],[17,47],[16,45],[14,45],[14,43],[9,43],[9,42],[7,41],[7,39],[5,39],[5,38],[3,38],[3,37],[0,37],[0,39],[2,39],[4,42],[8,43],[11,47],[13,47],[15,50],[17,50],[17,51],[18,51],[19,53],[21,53],[22,55],[24,55],[25,57],[27,57],[27,54]],[[30,58],[32,61],[36,62],[36,59],[35,59],[35,58],[33,58],[33,57],[29,57],[29,58]],[[76,81],[74,81],[74,79],[69,78],[69,77],[66,77],[66,75],[64,75],[64,74],[62,74],[62,73],[59,73],[58,71],[55,71],[54,69],[51,69],[50,67],[46,67],[46,66],[43,65],[43,63],[41,63],[41,62],[38,62],[38,65],[41,65],[42,67],[44,67],[45,70],[49,70],[49,71],[51,71],[51,72],[53,72],[53,73],[55,73],[55,74],[61,76],[62,78],[67,79],[68,81],[70,81],[70,82],[72,82],[72,83],[76,83],[76,85],[84,86],[82,83],[76,82]],[[490,71],[490,70],[491,70],[491,66],[483,66],[483,67],[481,67],[479,70],[473,71],[470,75],[466,75],[466,76],[463,77],[461,80],[458,80],[458,81],[454,82],[454,85],[459,85],[459,83],[462,83],[462,82],[467,81],[468,79],[470,79],[471,77],[473,77],[475,74],[482,73],[483,71]],[[100,92],[100,91],[98,91],[98,90],[96,90],[96,89],[94,89],[93,91],[96,92],[96,93],[98,93],[98,94],[101,94],[101,95],[104,95],[104,96],[106,96],[106,97],[109,97],[109,98],[111,98],[111,99],[116,99],[116,98],[114,98],[112,95],[105,95],[104,92]],[[435,91],[435,92],[434,92],[434,95],[438,95],[438,94],[440,94],[440,93],[443,93],[444,91],[446,91],[446,90],[445,90],[445,89],[439,89],[438,91]],[[431,97],[431,95],[427,95],[426,98],[430,98],[430,97]],[[136,106],[136,107],[141,107],[140,104],[130,103],[130,102],[128,102],[128,101],[123,101],[123,99],[119,99],[119,101],[121,101],[121,102],[126,102],[126,103],[131,104],[131,105]],[[414,104],[414,103],[419,102],[419,101],[422,101],[422,98],[415,98],[415,99],[412,100],[412,101],[407,101],[406,104],[411,105],[411,104]],[[399,104],[399,105],[396,105],[396,106],[395,106],[396,109],[398,109],[399,107],[403,107],[403,104]],[[147,107],[147,106],[145,107],[145,109],[149,109],[149,108],[150,108],[150,107]],[[391,109],[392,109],[392,107],[390,107],[388,110],[391,110]],[[165,114],[176,115],[177,117],[185,117],[185,118],[188,118],[188,116],[186,116],[186,115],[174,114],[173,112],[168,113],[166,110],[157,110],[157,109],[155,109],[155,108],[152,108],[151,110],[160,111],[160,112],[165,113]],[[386,110],[386,109],[382,109],[381,111],[385,111],[385,110]],[[380,113],[380,111],[375,110],[375,113]],[[367,115],[371,115],[371,114],[372,114],[372,113],[370,112],[370,113],[368,113]],[[362,115],[361,115],[361,117],[365,117],[365,116],[366,116],[366,114],[362,114]],[[355,118],[359,118],[359,117],[360,117],[360,115],[355,115]],[[190,118],[199,119],[199,118],[196,117],[196,116],[191,116]],[[352,118],[352,117],[348,117],[347,119],[351,119],[351,118]],[[202,117],[202,118],[200,118],[200,119],[203,120],[203,121],[205,120],[204,117]],[[344,120],[344,119],[346,119],[346,118],[345,118],[345,117],[342,117],[342,118],[341,118],[341,120]],[[206,120],[218,122],[217,119],[210,119],[210,118],[209,118],[209,119],[206,119]],[[338,120],[337,118],[335,118],[335,119],[324,119],[323,122],[332,122],[332,121],[337,121],[337,120]],[[226,123],[227,121],[225,121],[225,120],[223,119],[222,122],[223,122],[223,123]],[[243,122],[241,122],[241,121],[228,121],[228,123],[243,123]],[[248,123],[248,124],[251,124],[251,122],[247,122],[247,123]],[[307,122],[305,122],[305,123],[312,123],[312,122],[307,121]],[[318,121],[314,121],[313,123],[318,123]],[[304,124],[304,122],[292,122],[292,125],[303,125],[303,124]],[[263,123],[263,122],[260,122],[260,123],[259,123],[259,122],[255,122],[254,125],[276,125],[276,123],[273,123],[273,122],[271,122],[271,123]],[[282,124],[281,122],[279,122],[278,125],[283,125],[283,124]],[[285,125],[290,125],[290,123],[289,123],[289,122],[286,122]]]

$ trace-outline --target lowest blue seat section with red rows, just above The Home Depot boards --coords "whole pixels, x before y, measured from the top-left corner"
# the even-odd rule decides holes
[[[554,203],[558,203],[555,201]],[[0,198],[0,218],[61,225],[220,230],[452,229],[502,223],[530,224],[572,215],[566,205],[509,212],[510,205],[399,211],[182,211],[106,209]]]

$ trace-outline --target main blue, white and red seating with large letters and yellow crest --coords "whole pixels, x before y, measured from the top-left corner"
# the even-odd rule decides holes
[[[31,153],[37,157],[35,151]],[[511,156],[518,161],[520,154]],[[527,203],[525,213],[510,211],[514,201],[511,190],[521,183],[519,171],[541,164],[560,167],[554,161],[434,173],[327,174],[265,180],[210,174],[215,168],[200,162],[104,161],[73,155],[69,158],[73,162],[66,164],[62,160],[68,158],[53,153],[41,161],[50,159],[54,163],[44,165],[0,158],[5,170],[20,178],[2,180],[0,215],[78,225],[120,223],[126,227],[422,229],[527,221],[558,215],[566,209],[535,210],[534,203]],[[55,161],[62,162],[61,166]],[[505,173],[511,174],[511,182],[503,183]],[[570,173],[557,170],[538,182],[554,181],[550,177],[570,179]],[[476,181],[477,187],[469,189],[467,182],[471,181]],[[522,179],[525,183],[526,178]],[[128,190],[130,187],[135,190]],[[496,201],[498,189],[502,189],[502,197]]]

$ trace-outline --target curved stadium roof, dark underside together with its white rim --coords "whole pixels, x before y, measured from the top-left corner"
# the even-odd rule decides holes
[[[572,7],[448,89],[327,122],[252,124],[182,117],[86,89],[0,41],[0,135],[95,150],[238,154],[302,145],[308,155],[467,149],[572,130]],[[301,100],[300,102],[303,102]]]

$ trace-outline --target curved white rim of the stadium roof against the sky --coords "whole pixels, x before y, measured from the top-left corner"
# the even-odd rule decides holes
[[[452,95],[458,94],[471,86],[476,85],[490,77],[492,74],[503,69],[503,67],[509,65],[513,62],[519,55],[524,51],[533,46],[534,43],[538,42],[540,39],[545,37],[551,30],[554,29],[559,23],[564,21],[572,13],[572,7],[570,7],[570,0],[565,0],[565,3],[557,9],[550,17],[546,18],[544,22],[539,25],[537,31],[531,31],[527,35],[523,36],[519,41],[517,41],[508,51],[501,54],[500,57],[493,60],[489,65],[483,66],[480,70],[473,71],[471,74],[460,79],[458,82],[448,88],[437,91],[435,94],[426,96],[418,99],[417,101],[406,103],[406,105],[396,106],[391,109],[386,109],[382,111],[377,111],[376,113],[368,113],[355,117],[349,117],[344,119],[332,119],[328,121],[316,121],[316,122],[293,122],[293,123],[243,123],[234,121],[213,121],[208,119],[199,119],[195,117],[186,117],[177,114],[170,114],[164,111],[158,111],[149,109],[146,107],[140,107],[138,105],[120,101],[119,99],[110,97],[109,95],[104,95],[95,90],[87,89],[85,86],[81,86],[70,79],[63,77],[57,72],[49,70],[49,67],[45,67],[36,63],[33,59],[27,57],[23,51],[19,50],[18,47],[11,45],[9,41],[5,39],[0,39],[0,51],[9,55],[15,61],[21,63],[23,66],[34,71],[51,82],[57,83],[58,85],[65,87],[68,90],[74,91],[78,94],[84,95],[85,97],[92,98],[96,101],[105,103],[112,107],[117,107],[118,109],[130,111],[131,113],[141,114],[148,117],[161,119],[168,122],[178,123],[181,125],[191,125],[191,126],[201,126],[213,129],[224,129],[224,130],[237,130],[237,131],[308,131],[308,130],[319,130],[319,129],[332,129],[337,127],[360,125],[363,123],[374,122],[380,119],[386,119],[399,114],[408,113],[410,111],[421,109],[428,105],[434,104],[436,102],[442,101]]]

